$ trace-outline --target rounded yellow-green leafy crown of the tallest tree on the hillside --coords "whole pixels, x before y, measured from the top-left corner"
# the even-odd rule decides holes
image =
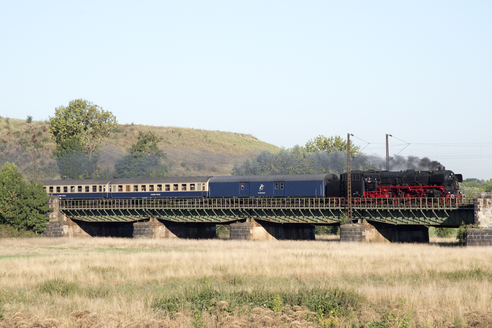
[[[50,117],[49,132],[57,148],[65,140],[73,140],[82,146],[82,151],[92,158],[105,138],[109,138],[118,122],[113,113],[85,99],[75,99],[68,106],[55,109],[55,117]]]

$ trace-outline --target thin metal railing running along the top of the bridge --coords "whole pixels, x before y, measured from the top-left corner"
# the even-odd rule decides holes
[[[352,198],[353,209],[458,210],[469,198]],[[60,200],[60,209],[347,209],[346,198],[177,198]]]

